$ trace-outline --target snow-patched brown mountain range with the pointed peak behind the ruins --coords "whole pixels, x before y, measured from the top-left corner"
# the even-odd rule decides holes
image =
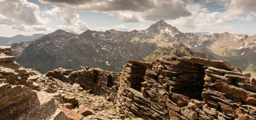
[[[160,20],[146,30],[131,32],[112,29],[73,34],[56,30],[37,40],[12,45],[12,49],[19,64],[40,72],[59,67],[79,70],[85,66],[119,72],[127,60],[154,59],[159,57],[154,53],[165,55],[166,50],[175,55],[177,52],[170,50],[184,47],[183,50],[195,52],[194,56],[225,60],[242,71],[256,73],[255,45],[256,36],[183,33]]]

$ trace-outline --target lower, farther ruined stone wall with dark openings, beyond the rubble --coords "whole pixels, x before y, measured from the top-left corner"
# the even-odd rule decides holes
[[[83,89],[91,90],[92,94],[108,96],[112,101],[115,101],[117,96],[119,86],[117,72],[89,67],[79,71],[58,68],[46,73],[46,76],[52,76],[70,84],[80,84]]]

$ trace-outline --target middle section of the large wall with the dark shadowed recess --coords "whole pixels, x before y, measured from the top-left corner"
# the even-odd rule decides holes
[[[146,71],[148,76],[145,80],[158,81],[167,92],[200,99],[204,85],[204,81],[202,81],[204,78],[203,66],[176,59],[175,57],[166,56],[156,60],[152,69]]]

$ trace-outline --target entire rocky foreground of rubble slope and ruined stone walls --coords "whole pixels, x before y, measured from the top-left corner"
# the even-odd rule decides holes
[[[19,66],[0,47],[0,120],[256,120],[256,80],[225,61],[164,56],[123,71]]]

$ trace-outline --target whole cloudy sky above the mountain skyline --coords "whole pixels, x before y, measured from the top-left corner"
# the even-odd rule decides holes
[[[256,34],[256,0],[0,0],[0,36],[144,30],[159,20],[181,32]]]

